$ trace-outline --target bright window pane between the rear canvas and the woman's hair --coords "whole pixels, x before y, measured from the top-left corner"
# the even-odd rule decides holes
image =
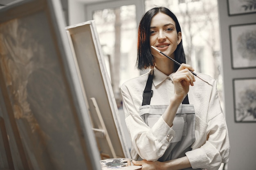
[[[119,87],[138,76],[137,23],[135,5],[97,10],[93,13],[117,106],[121,106]]]

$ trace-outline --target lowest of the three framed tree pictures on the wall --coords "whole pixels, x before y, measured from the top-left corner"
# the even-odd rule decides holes
[[[236,122],[256,122],[256,77],[233,79]]]

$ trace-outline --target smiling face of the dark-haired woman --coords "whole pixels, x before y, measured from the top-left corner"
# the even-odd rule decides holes
[[[174,58],[174,51],[181,41],[181,32],[177,33],[175,22],[171,17],[164,13],[157,13],[150,23],[150,46],[166,55]],[[161,53],[151,48],[151,53],[157,58],[166,58]]]

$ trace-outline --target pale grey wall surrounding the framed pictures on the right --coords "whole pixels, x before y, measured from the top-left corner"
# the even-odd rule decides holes
[[[232,69],[229,26],[256,23],[256,13],[228,15],[227,0],[218,0],[220,15],[220,37],[224,78],[225,113],[229,129],[231,152],[228,170],[256,169],[256,122],[236,123],[234,118],[233,79],[256,77],[256,68]]]

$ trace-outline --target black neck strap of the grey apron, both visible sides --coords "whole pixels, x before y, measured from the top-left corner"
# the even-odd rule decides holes
[[[152,69],[148,75],[148,80],[145,86],[145,89],[143,91],[143,100],[142,105],[150,105],[151,97],[153,96],[153,90],[151,90],[152,82],[153,82],[153,76],[154,76],[154,70]],[[182,101],[182,104],[189,104],[189,97],[186,95],[184,100]]]

